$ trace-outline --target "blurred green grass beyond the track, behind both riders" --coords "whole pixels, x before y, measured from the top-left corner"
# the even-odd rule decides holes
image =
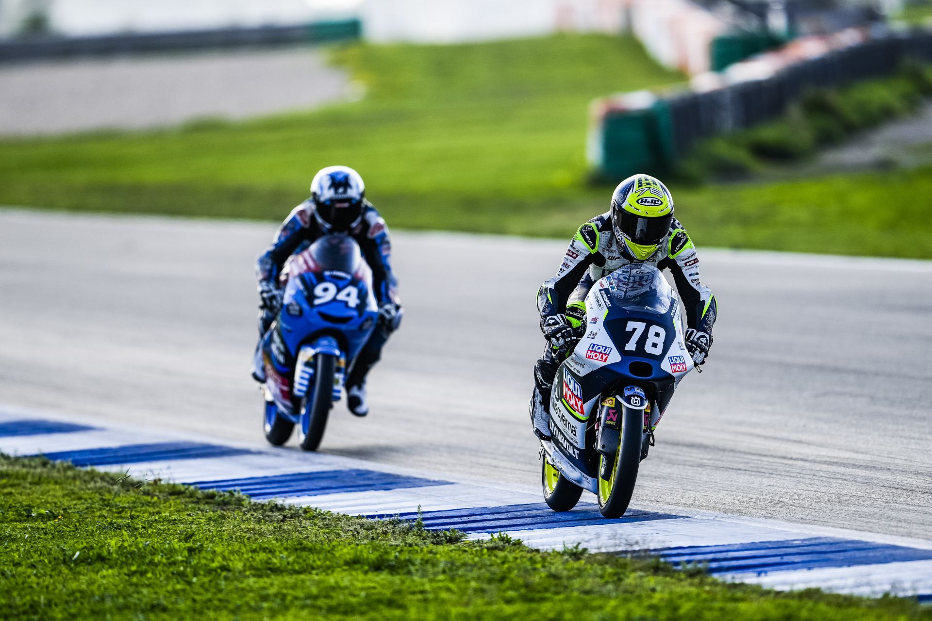
[[[362,101],[235,124],[0,141],[0,204],[281,220],[307,196],[316,169],[343,163],[363,173],[396,228],[569,238],[609,206],[611,187],[587,181],[589,102],[681,79],[633,39],[602,35],[351,45],[332,56],[366,85]],[[811,105],[856,128],[889,107],[889,88],[877,90]],[[836,125],[817,129],[830,135]],[[797,136],[795,128],[764,128],[753,144],[760,151],[815,140]],[[747,144],[724,140],[706,155],[739,167],[749,157]],[[700,247],[927,259],[932,238],[915,223],[932,210],[930,178],[924,168],[671,187]]]

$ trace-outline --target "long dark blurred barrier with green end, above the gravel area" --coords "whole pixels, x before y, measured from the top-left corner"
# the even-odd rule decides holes
[[[33,61],[81,56],[108,56],[215,47],[275,46],[358,38],[360,20],[316,21],[297,26],[260,26],[180,33],[42,36],[0,42],[0,61]]]

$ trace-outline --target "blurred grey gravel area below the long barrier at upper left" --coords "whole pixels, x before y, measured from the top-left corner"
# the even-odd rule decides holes
[[[238,119],[349,94],[347,77],[309,47],[6,64],[0,66],[0,134]]]

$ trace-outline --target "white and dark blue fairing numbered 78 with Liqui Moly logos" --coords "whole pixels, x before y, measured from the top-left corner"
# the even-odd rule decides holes
[[[692,370],[679,304],[660,271],[626,265],[600,279],[586,296],[586,334],[557,371],[551,397],[553,444],[595,492],[595,420],[600,398],[639,386],[659,418],[680,379]],[[559,467],[558,465],[556,465]],[[561,468],[563,470],[563,468]],[[566,474],[566,472],[565,472]],[[569,476],[569,475],[568,475]]]

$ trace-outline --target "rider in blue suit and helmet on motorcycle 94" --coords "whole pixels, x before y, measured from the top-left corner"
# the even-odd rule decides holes
[[[378,303],[378,321],[372,336],[363,345],[346,379],[349,412],[369,413],[365,377],[378,359],[391,332],[398,329],[404,313],[397,293],[398,282],[391,271],[391,240],[385,221],[365,199],[363,178],[346,166],[330,166],[318,171],[310,182],[310,198],[304,201],[279,227],[272,245],[259,255],[255,273],[259,278],[259,345],[256,347],[253,378],[266,381],[262,360],[262,339],[281,309],[284,293],[279,286],[281,267],[291,255],[310,246],[318,237],[345,234],[359,244],[363,258],[372,269],[373,290]]]

